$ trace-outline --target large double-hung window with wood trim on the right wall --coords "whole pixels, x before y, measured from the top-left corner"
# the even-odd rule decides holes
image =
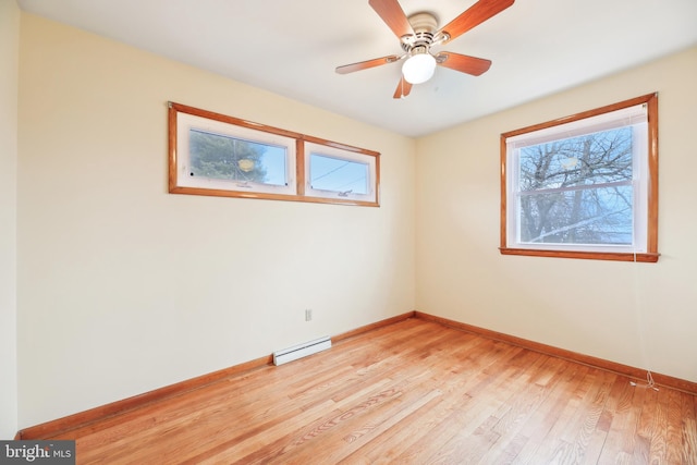
[[[500,250],[658,261],[658,95],[502,134]]]

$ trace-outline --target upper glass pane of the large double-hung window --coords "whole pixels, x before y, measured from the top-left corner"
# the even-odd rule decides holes
[[[537,191],[632,180],[632,126],[524,147],[519,189]]]

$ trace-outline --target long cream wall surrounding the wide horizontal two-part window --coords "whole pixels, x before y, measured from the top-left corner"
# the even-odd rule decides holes
[[[380,151],[382,206],[170,195],[168,100]],[[23,13],[20,427],[413,310],[414,157],[413,139]]]

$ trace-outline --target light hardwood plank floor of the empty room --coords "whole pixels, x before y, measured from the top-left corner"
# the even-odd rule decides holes
[[[81,464],[696,464],[696,411],[412,318],[54,439]]]

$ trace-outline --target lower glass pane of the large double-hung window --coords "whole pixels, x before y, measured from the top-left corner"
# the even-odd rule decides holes
[[[519,197],[522,243],[631,245],[632,185]]]

